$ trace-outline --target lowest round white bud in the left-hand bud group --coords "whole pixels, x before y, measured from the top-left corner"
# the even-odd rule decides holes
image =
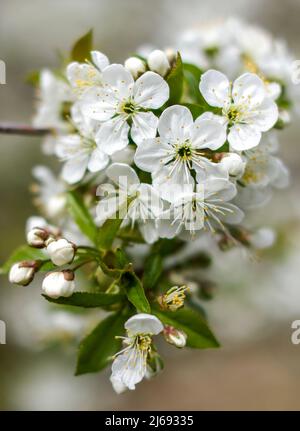
[[[45,295],[54,299],[71,296],[75,289],[74,272],[70,270],[50,272],[44,278],[42,289]]]

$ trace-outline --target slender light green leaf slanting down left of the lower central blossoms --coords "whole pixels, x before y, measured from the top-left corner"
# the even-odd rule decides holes
[[[97,237],[97,227],[89,210],[84,204],[81,195],[77,191],[70,191],[67,196],[70,215],[77,223],[81,232],[91,241],[95,242]]]

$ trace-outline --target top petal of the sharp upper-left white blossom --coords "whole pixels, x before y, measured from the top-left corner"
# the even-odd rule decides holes
[[[127,100],[132,93],[133,77],[121,64],[111,64],[102,73],[103,85],[113,88],[119,100]]]

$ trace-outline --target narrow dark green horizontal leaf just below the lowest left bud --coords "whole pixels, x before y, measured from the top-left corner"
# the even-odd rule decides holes
[[[74,305],[76,307],[95,308],[103,307],[106,305],[116,304],[124,299],[124,295],[112,293],[90,293],[90,292],[75,292],[68,298],[60,297],[58,299],[50,298],[43,295],[49,302],[63,305]]]

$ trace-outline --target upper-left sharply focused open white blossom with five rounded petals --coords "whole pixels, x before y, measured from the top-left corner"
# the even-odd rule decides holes
[[[82,101],[88,118],[101,122],[96,141],[111,155],[129,143],[129,131],[139,145],[154,138],[158,118],[151,112],[169,98],[169,86],[154,72],[146,72],[134,81],[120,64],[108,66],[102,75],[103,88],[91,89]]]

